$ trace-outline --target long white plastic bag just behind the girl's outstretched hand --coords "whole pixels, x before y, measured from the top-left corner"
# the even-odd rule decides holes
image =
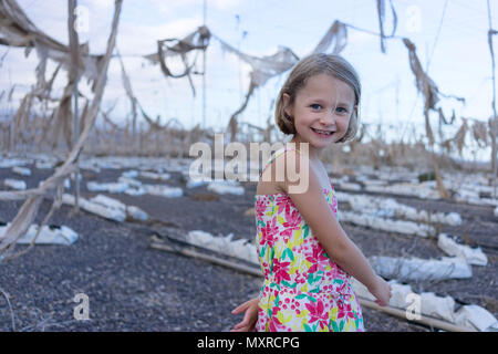
[[[465,259],[443,257],[442,260],[419,258],[369,258],[372,268],[387,279],[396,280],[444,280],[471,278],[473,270]]]

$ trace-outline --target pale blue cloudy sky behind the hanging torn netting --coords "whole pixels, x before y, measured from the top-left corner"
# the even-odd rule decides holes
[[[65,0],[18,0],[32,22],[43,32],[68,43]],[[489,0],[491,21],[498,28],[498,3]],[[114,11],[113,0],[80,0],[87,10],[87,31],[80,41],[89,42],[93,54],[105,51]],[[447,127],[448,137],[461,117],[487,122],[492,114],[491,60],[487,43],[488,12],[486,0],[393,0],[397,13],[397,37],[415,43],[418,58],[428,75],[446,95],[465,97],[465,105],[442,98],[439,106],[456,125]],[[378,33],[375,0],[206,0],[206,25],[225,42],[253,56],[270,55],[280,45],[298,56],[309,54],[335,20]],[[386,1],[388,4],[388,1]],[[143,55],[157,50],[157,40],[183,38],[203,24],[203,0],[125,0],[120,20],[117,49],[124,58],[133,90],[144,110],[160,123],[177,118],[186,128],[203,124],[203,85],[194,75],[197,95],[188,81],[166,79],[158,65]],[[392,31],[392,14],[386,9],[385,33]],[[495,43],[497,37],[495,37]],[[498,51],[496,46],[495,51]],[[7,53],[6,53],[7,52]],[[0,92],[15,84],[14,100],[34,83],[38,58],[23,50],[0,48]],[[409,69],[408,52],[401,39],[386,40],[381,52],[380,38],[347,29],[347,44],[341,55],[350,61],[362,82],[361,122],[391,126],[395,136],[408,138],[412,127],[424,134],[423,97],[417,95],[415,77]],[[189,56],[190,60],[194,55]],[[203,55],[196,67],[201,71]],[[181,67],[170,62],[178,73]],[[55,66],[49,65],[48,75]],[[230,115],[239,108],[249,86],[250,66],[231,53],[224,52],[211,39],[206,54],[206,126],[224,132]],[[264,126],[272,114],[271,102],[289,71],[272,77],[258,88],[239,119]],[[62,93],[65,75],[59,75],[55,93]],[[84,93],[90,90],[82,83]],[[116,103],[117,100],[117,103]],[[129,102],[121,80],[117,60],[111,62],[103,108],[116,106],[111,115],[124,125]],[[1,110],[12,108],[6,100]],[[433,116],[433,128],[437,119]]]

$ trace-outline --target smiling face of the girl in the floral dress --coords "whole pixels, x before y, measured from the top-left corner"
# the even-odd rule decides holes
[[[353,110],[357,110],[353,88],[323,73],[308,79],[293,104],[289,105],[288,94],[282,98],[286,113],[294,118],[300,140],[319,150],[345,135]]]

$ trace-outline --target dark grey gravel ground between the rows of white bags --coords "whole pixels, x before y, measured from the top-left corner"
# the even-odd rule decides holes
[[[0,180],[22,178],[30,188],[52,174],[27,167],[33,173],[30,177],[19,177],[10,168],[0,168]],[[102,169],[96,175],[82,170],[82,196],[96,195],[86,190],[86,181],[115,181],[122,171]],[[148,195],[105,195],[144,209],[152,218],[169,222],[183,233],[200,229],[224,236],[231,232],[236,239],[253,239],[255,219],[245,211],[253,207],[256,184],[243,184],[243,197],[218,196],[206,187],[187,189],[180,174],[176,173],[172,173],[167,184],[184,187],[184,196],[167,199]],[[412,289],[449,294],[458,305],[479,304],[497,315],[498,220],[492,208],[412,197],[396,199],[416,208],[459,212],[464,225],[459,228],[444,226],[442,231],[459,236],[471,246],[486,244],[483,249],[489,260],[487,267],[473,267],[471,279],[418,282],[412,283]],[[20,206],[17,201],[0,201],[0,221],[11,221]],[[37,223],[50,206],[51,199],[42,202]],[[54,212],[49,223],[72,228],[79,232],[77,241],[72,246],[35,246],[20,258],[0,264],[0,288],[10,299],[17,331],[227,331],[241,319],[230,311],[259,291],[260,280],[255,277],[152,249],[152,226],[117,223],[84,211],[74,215],[68,206]],[[350,223],[344,223],[343,228],[366,257],[445,256],[434,239],[404,237]],[[90,321],[74,320],[77,303],[73,298],[77,293],[89,296]],[[372,332],[430,331],[370,309],[363,309],[363,315],[366,329]],[[0,295],[0,331],[10,330],[11,311]]]

